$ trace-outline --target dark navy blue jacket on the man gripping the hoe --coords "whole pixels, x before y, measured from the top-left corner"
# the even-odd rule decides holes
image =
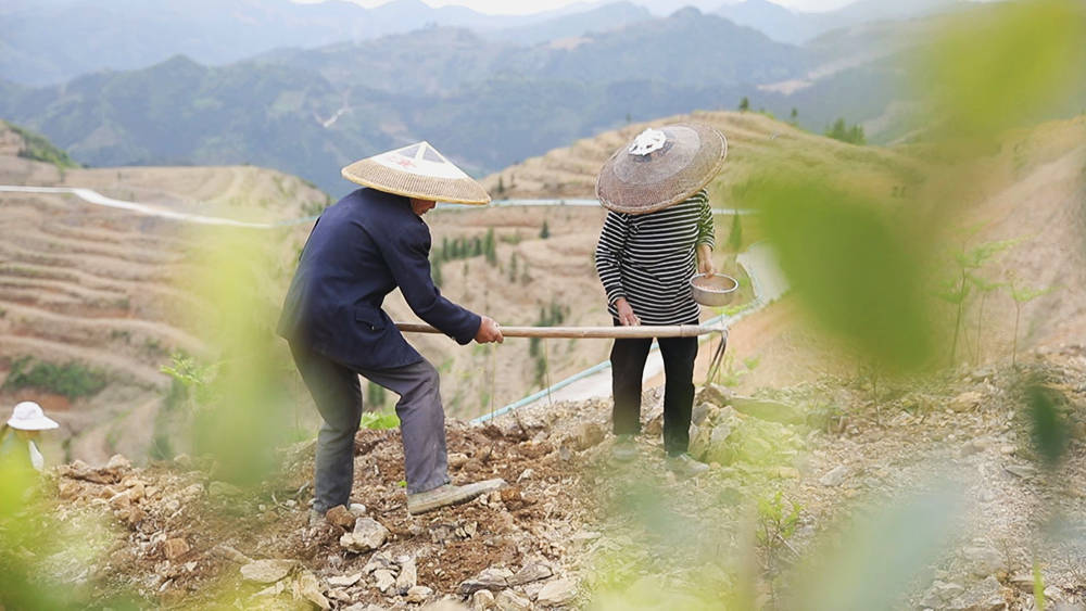
[[[359,189],[320,215],[283,301],[279,334],[355,369],[411,365],[422,357],[389,315],[400,288],[419,318],[460,344],[481,319],[441,296],[430,278],[430,229],[407,198]]]

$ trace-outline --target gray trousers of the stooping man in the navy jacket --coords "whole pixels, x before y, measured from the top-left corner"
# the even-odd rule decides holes
[[[354,435],[362,419],[358,375],[401,397],[396,416],[403,438],[407,493],[426,492],[449,483],[445,412],[438,370],[428,360],[390,369],[356,370],[301,345],[291,344],[290,352],[325,421],[317,435],[314,509],[325,512],[351,501]]]

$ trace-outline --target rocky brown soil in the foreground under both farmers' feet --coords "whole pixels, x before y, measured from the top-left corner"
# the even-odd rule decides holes
[[[1023,372],[1059,397],[1071,433],[1051,468],[1031,441]],[[905,582],[894,608],[1036,609],[1035,561],[1047,608],[1086,604],[1083,346],[1031,355],[1019,369],[884,383],[877,400],[862,380],[755,398],[702,389],[691,449],[710,469],[694,478],[665,461],[660,411],[659,391],[647,392],[646,434],[626,464],[611,459],[604,400],[452,423],[454,480],[509,485],[420,517],[406,512],[396,431],[358,433],[354,505],[317,525],[312,443],[285,451],[283,474],[257,489],[187,457],[75,462],[49,475],[51,509],[39,520],[86,546],[39,552],[41,578],[166,608],[810,608],[800,601],[818,594],[799,575],[817,560],[816,575],[833,578],[833,553],[819,551],[828,542],[847,547],[895,505],[930,519],[923,499],[950,482],[931,557],[902,564],[912,535],[876,537],[881,570]]]

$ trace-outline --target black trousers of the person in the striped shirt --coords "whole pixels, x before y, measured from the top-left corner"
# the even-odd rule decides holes
[[[664,449],[678,456],[690,446],[697,338],[659,338],[656,341],[664,357]],[[641,432],[641,383],[652,345],[652,340],[615,340],[610,360],[615,397],[611,418],[616,435]]]

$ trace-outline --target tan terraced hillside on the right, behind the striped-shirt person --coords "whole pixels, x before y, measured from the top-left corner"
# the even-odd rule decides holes
[[[696,112],[632,124],[527,160],[487,177],[484,184],[492,193],[510,199],[591,198],[596,174],[619,147],[646,127],[683,120],[708,123],[728,137],[728,163],[709,187],[718,207],[744,207],[744,189],[752,176],[815,173],[876,200],[930,201],[936,211],[951,211],[939,219],[936,230],[945,232],[947,243],[956,247],[1015,240],[974,272],[1002,285],[985,297],[983,310],[980,298],[968,301],[963,347],[958,352],[962,362],[989,361],[1012,352],[1016,308],[1007,287],[1012,276],[1020,290],[1048,291],[1020,304],[1019,349],[1059,345],[1086,334],[1086,244],[1082,239],[1086,234],[1086,116],[1005,135],[997,149],[977,163],[976,187],[957,189],[955,201],[942,199],[938,190],[948,183],[936,182],[948,180],[961,187],[962,177],[936,178],[925,165],[924,160],[932,158],[927,147],[855,147],[758,113],[731,112]],[[933,178],[929,184],[920,179],[925,175]],[[929,191],[914,196],[914,189]],[[749,225],[755,225],[749,239],[757,239],[757,221]],[[744,237],[748,234],[749,229]],[[952,253],[945,258],[952,260]],[[954,267],[948,262],[944,265],[948,270]],[[933,295],[936,291],[933,285]],[[951,318],[954,310],[951,304],[942,304],[939,311]],[[982,314],[984,323],[978,327]],[[825,339],[795,324],[798,315],[796,304],[786,298],[732,333],[736,362],[749,358],[759,364],[750,371],[736,366],[746,374],[743,387],[797,383],[812,373],[841,370],[842,364],[828,357]]]

